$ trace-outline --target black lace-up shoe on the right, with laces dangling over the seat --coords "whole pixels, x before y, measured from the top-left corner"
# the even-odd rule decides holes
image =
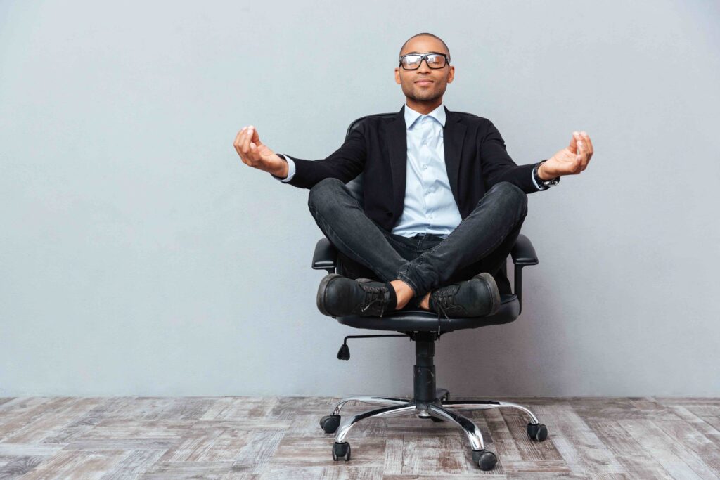
[[[430,309],[445,318],[487,317],[500,309],[500,291],[487,272],[457,284],[443,286],[430,294]]]

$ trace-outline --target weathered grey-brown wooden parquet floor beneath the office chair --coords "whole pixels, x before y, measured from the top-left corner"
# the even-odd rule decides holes
[[[498,455],[487,472],[461,430],[414,415],[359,422],[333,461],[318,421],[338,400],[0,398],[0,479],[720,478],[720,399],[505,398],[549,437],[529,440],[516,409],[463,412]]]

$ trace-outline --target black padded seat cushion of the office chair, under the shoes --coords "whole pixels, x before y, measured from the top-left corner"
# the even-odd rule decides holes
[[[489,317],[441,317],[441,332],[465,328],[485,327],[510,323],[518,318],[520,302],[515,294],[500,295],[500,309]],[[438,330],[438,314],[423,309],[402,309],[385,313],[382,317],[337,317],[339,323],[348,327],[369,330],[394,330],[397,332],[433,332]]]

